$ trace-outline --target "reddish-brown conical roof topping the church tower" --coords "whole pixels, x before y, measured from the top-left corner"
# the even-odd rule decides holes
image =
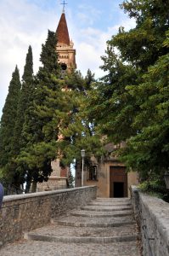
[[[70,36],[67,28],[67,22],[65,20],[65,13],[63,13],[59,20],[59,25],[56,30],[58,43],[70,45]]]

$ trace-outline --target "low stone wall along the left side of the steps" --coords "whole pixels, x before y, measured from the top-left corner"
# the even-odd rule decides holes
[[[26,195],[8,195],[0,210],[0,242],[15,241],[25,232],[40,228],[74,208],[96,198],[96,187],[54,190]]]

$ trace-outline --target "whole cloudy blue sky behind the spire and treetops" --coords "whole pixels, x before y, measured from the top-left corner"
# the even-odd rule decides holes
[[[96,78],[104,75],[103,62],[106,41],[120,26],[131,29],[135,22],[124,14],[122,0],[67,0],[65,16],[76,49],[77,69],[85,76],[90,68]],[[17,65],[20,79],[29,45],[32,47],[34,73],[48,29],[56,31],[62,13],[63,0],[0,0],[0,117],[8,94],[8,85]]]

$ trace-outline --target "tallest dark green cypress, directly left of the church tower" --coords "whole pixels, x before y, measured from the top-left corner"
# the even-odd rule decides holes
[[[37,182],[48,180],[48,176],[52,172],[51,160],[54,159],[56,154],[56,149],[51,145],[56,142],[58,127],[56,126],[53,131],[50,131],[51,133],[46,137],[44,127],[53,118],[53,114],[50,112],[42,113],[41,111],[42,108],[56,108],[48,96],[50,90],[58,90],[59,84],[57,79],[57,76],[59,76],[59,63],[56,44],[55,33],[48,31],[48,38],[45,44],[42,44],[40,57],[42,67],[39,68],[35,77],[35,90],[31,104],[25,114],[22,133],[25,147],[22,148],[17,159],[18,163],[24,166],[27,171],[27,182],[31,183],[33,179],[32,191],[36,190]],[[54,140],[51,140],[51,137]]]

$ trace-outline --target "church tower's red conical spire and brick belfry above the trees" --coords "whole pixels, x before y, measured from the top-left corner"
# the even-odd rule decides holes
[[[74,44],[72,40],[70,41],[64,9],[56,30],[56,37],[58,40],[56,51],[59,54],[62,72],[70,72],[71,69],[76,68],[76,49],[73,49]]]

